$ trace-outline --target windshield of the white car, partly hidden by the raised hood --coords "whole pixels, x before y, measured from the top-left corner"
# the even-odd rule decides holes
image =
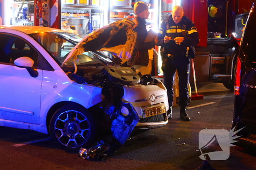
[[[41,44],[60,66],[76,44],[83,39],[69,32],[35,33],[30,36]],[[77,66],[94,66],[97,63],[113,64],[112,60],[103,52],[84,52],[76,57],[75,64]],[[68,60],[63,66],[74,66],[73,60]]]

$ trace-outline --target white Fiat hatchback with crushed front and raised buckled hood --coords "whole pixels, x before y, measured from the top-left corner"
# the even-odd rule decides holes
[[[133,24],[116,21],[84,38],[0,26],[0,126],[49,133],[68,150],[90,146],[101,131],[123,144],[135,126],[165,126],[163,84],[120,67],[133,51]]]

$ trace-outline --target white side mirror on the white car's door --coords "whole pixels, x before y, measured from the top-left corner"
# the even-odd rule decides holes
[[[20,57],[14,60],[14,64],[20,68],[26,68],[31,77],[37,77],[38,72],[33,68],[34,61],[29,57]]]

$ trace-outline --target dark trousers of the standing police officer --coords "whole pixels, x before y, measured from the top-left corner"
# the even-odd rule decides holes
[[[169,106],[173,106],[173,82],[175,72],[178,72],[179,105],[188,106],[188,83],[189,83],[189,63],[190,60],[185,55],[168,57],[165,72],[163,74],[164,85],[167,89]]]

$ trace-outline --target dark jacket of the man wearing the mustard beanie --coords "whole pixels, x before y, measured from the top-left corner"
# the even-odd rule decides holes
[[[135,25],[133,31],[137,32],[137,39],[135,49],[133,50],[133,64],[147,66],[148,65],[148,50],[153,48],[156,44],[155,41],[144,43],[147,37],[146,21],[141,17],[136,16],[133,20]]]

